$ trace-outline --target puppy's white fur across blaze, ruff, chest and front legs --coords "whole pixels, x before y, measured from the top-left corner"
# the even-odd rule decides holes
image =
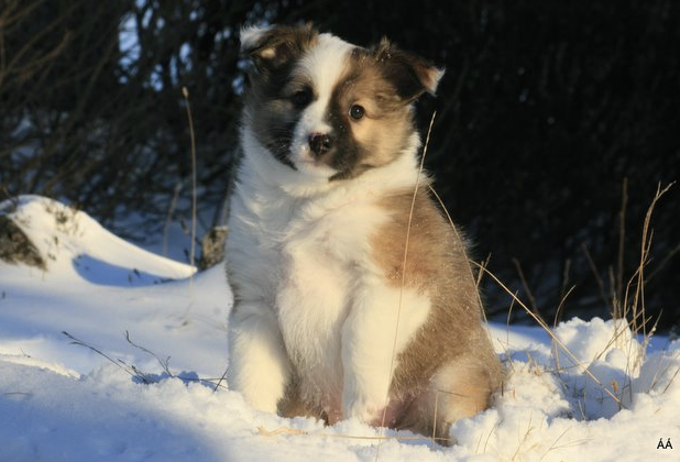
[[[298,128],[300,140],[318,128],[348,51],[321,35],[301,61],[319,97]],[[371,239],[390,218],[379,202],[415,187],[419,139],[414,134],[391,164],[346,182],[328,182],[314,166],[281,164],[248,123],[242,143],[227,242],[237,297],[229,384],[253,407],[275,411],[294,365],[305,377],[303,395],[325,404],[329,415],[375,419],[396,367],[392,360],[430,307],[426,294],[388,284],[371,260]],[[305,162],[303,145],[298,140],[296,165]]]

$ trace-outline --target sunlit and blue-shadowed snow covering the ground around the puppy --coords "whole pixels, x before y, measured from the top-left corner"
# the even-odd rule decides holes
[[[508,377],[490,409],[453,425],[456,446],[325,428],[255,411],[220,381],[221,267],[195,274],[40,197],[0,213],[50,255],[45,271],[0,262],[2,462],[680,459],[677,341],[596,318],[561,323],[559,342],[492,323]]]

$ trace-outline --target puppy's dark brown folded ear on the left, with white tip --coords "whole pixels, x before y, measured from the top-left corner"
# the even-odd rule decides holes
[[[241,54],[259,72],[273,72],[305,53],[318,31],[310,23],[300,26],[272,25],[241,30]]]

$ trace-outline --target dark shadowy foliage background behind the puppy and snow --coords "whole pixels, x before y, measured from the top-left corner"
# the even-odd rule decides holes
[[[188,217],[183,87],[200,224],[223,220],[239,151],[238,31],[252,23],[314,21],[363,45],[386,35],[447,68],[438,97],[418,105],[423,128],[437,110],[427,167],[475,260],[491,255],[491,271],[548,320],[574,285],[562,316],[608,315],[638,268],[658,185],[680,174],[672,0],[0,4],[0,194],[68,200],[136,241]],[[680,323],[677,188],[655,210],[645,271],[661,328]],[[489,311],[505,316],[509,297],[483,283]]]

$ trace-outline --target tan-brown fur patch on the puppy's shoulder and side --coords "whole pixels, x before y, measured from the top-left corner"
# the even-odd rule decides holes
[[[476,371],[461,374],[463,380],[451,384],[458,388],[454,393],[482,389],[489,396],[498,385],[502,373],[481,322],[482,307],[464,243],[423,187],[416,196],[404,264],[412,200],[413,191],[386,200],[384,207],[392,211],[392,220],[372,240],[373,257],[387,280],[394,286],[403,280],[405,287],[417,288],[431,300],[428,319],[397,358],[391,396],[410,402],[414,394],[429,387],[430,380],[441,367],[453,363],[474,364]],[[475,397],[470,403],[475,407],[480,399]],[[486,407],[485,402],[483,407]]]

